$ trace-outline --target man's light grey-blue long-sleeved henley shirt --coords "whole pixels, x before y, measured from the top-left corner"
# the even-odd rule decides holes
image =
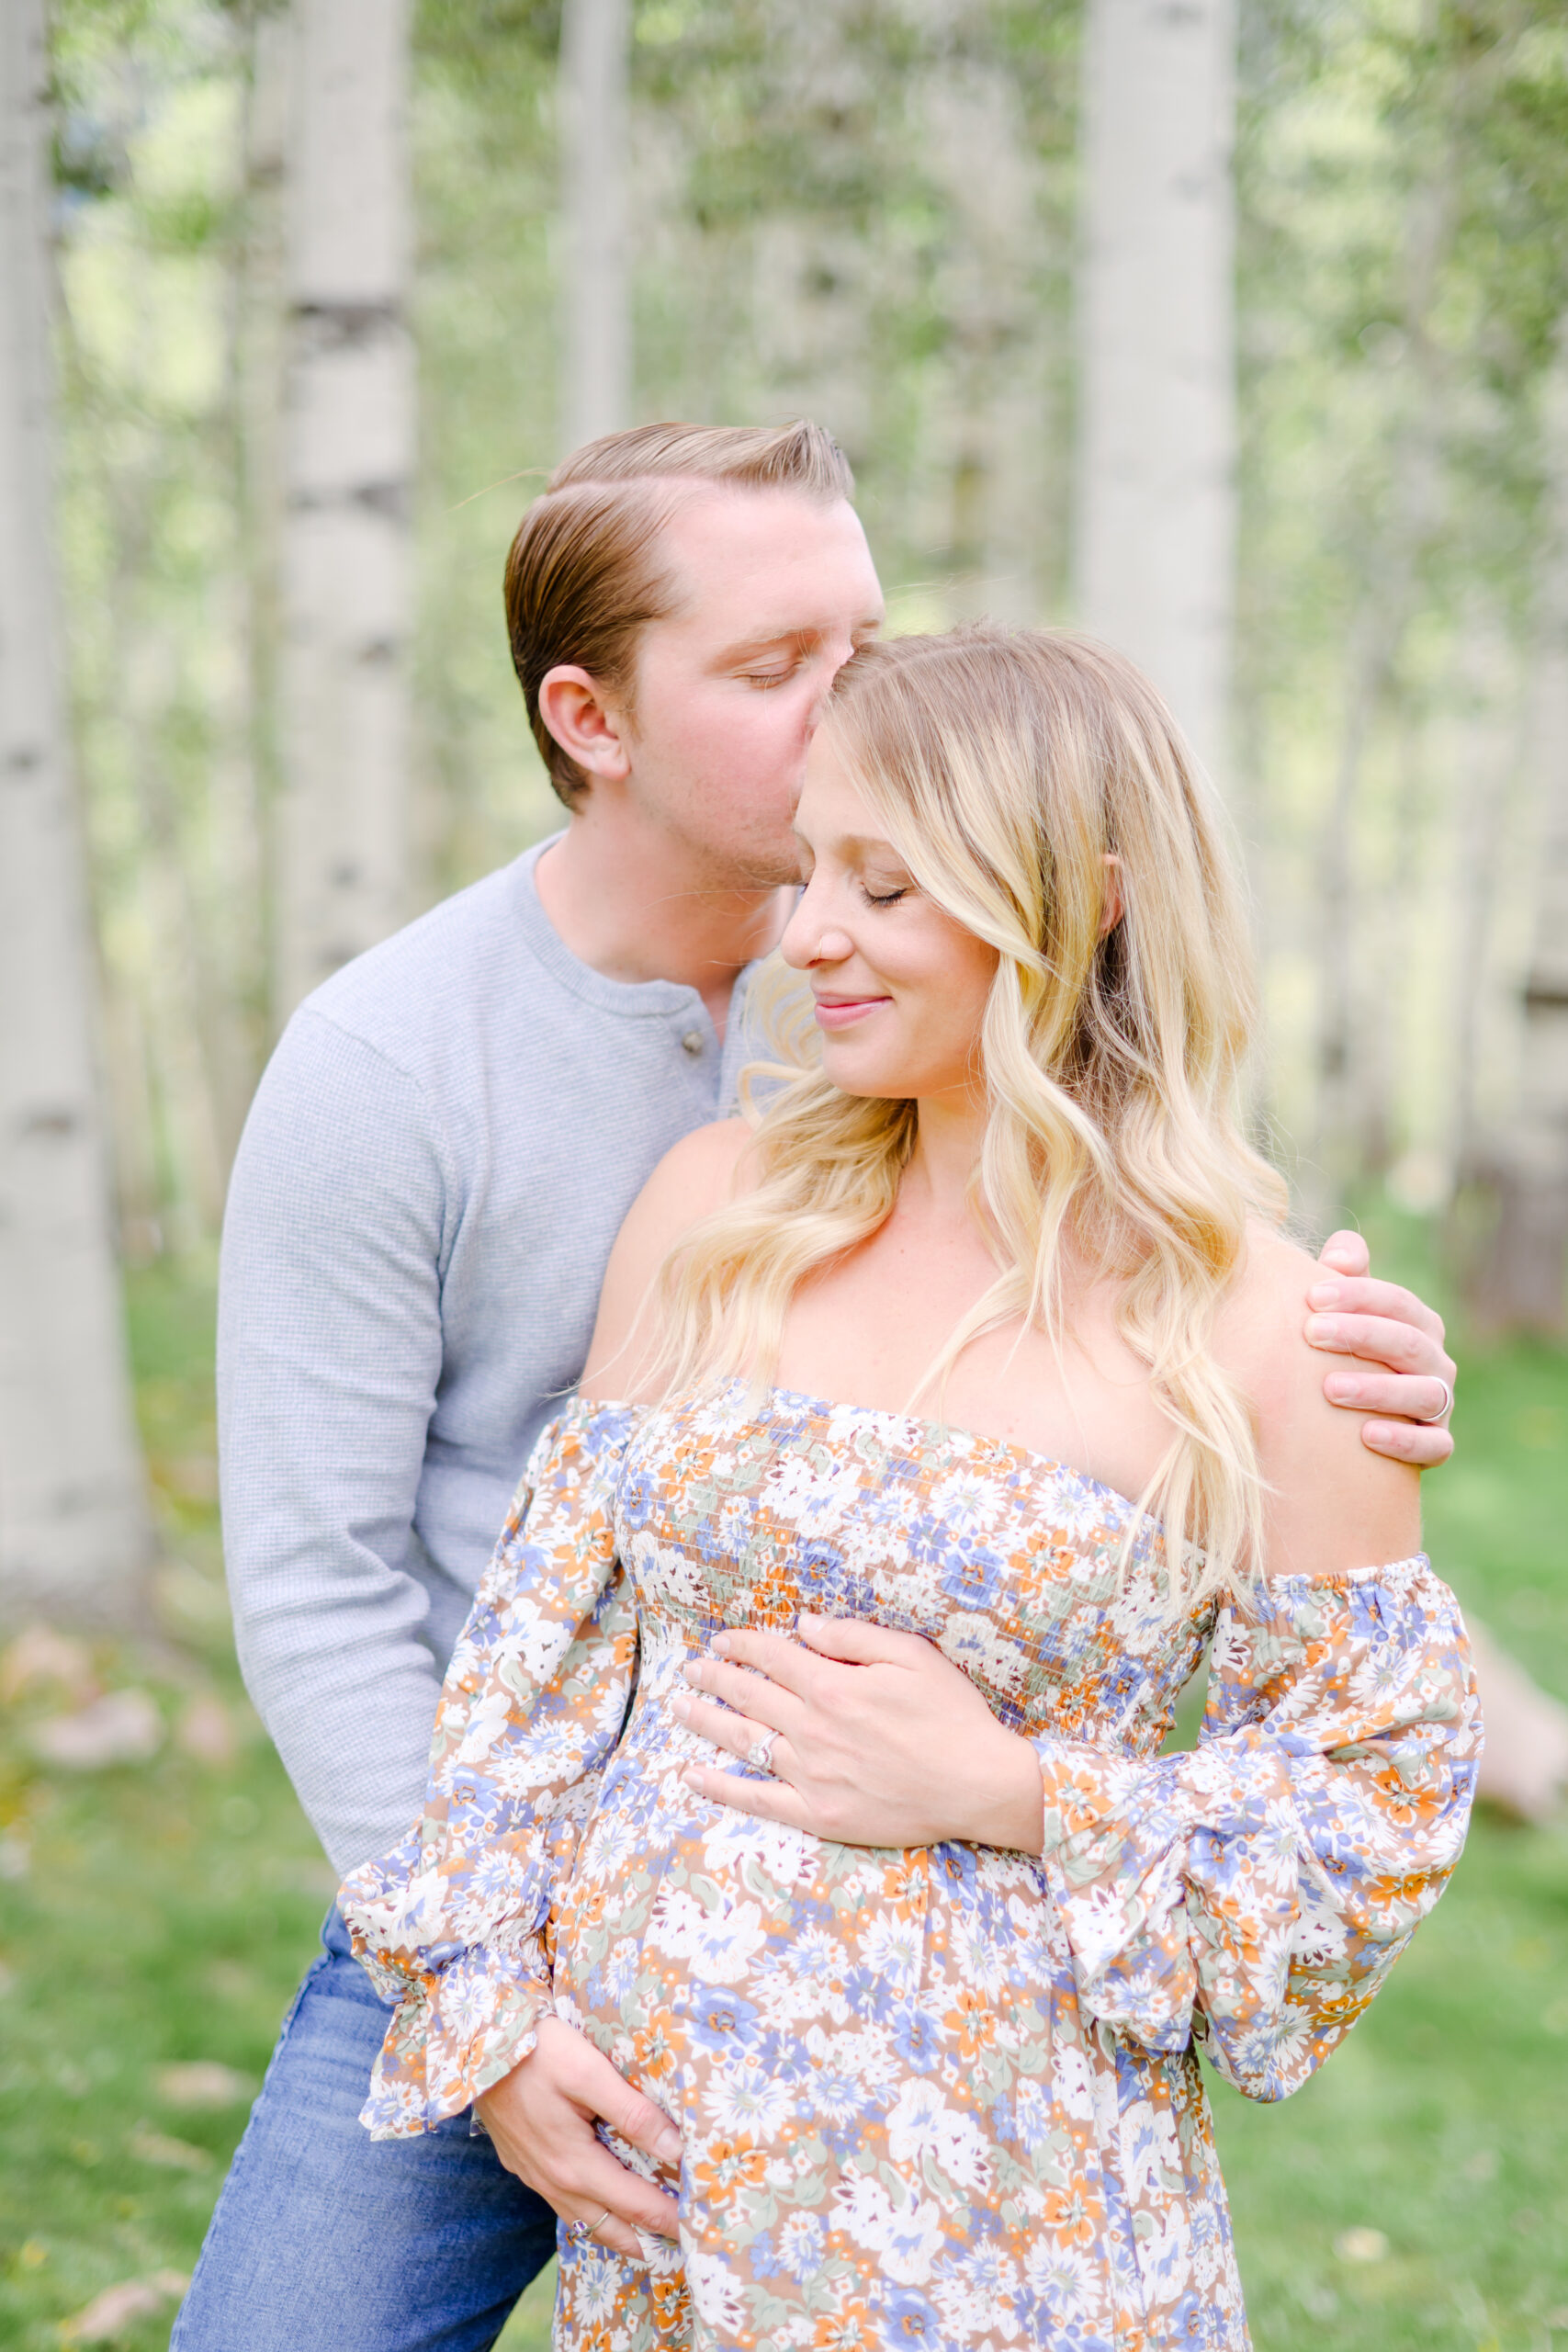
[[[223,1221],[219,1463],[247,1689],[339,1872],[416,1818],[442,1672],[621,1218],[733,1108],[701,995],[552,931],[548,844],[289,1021]]]

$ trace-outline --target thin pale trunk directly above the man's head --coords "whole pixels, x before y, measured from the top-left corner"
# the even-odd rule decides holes
[[[562,447],[618,433],[632,414],[628,270],[630,0],[564,0]]]

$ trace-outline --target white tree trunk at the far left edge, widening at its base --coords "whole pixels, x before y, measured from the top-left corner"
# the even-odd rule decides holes
[[[42,0],[0,7],[0,1611],[129,1616],[150,1555],[52,548]]]

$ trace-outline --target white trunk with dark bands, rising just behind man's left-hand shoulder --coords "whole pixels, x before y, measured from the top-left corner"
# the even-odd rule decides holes
[[[275,1014],[409,901],[407,0],[296,0]]]

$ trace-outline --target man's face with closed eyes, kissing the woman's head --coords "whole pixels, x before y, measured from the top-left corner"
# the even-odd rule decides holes
[[[816,713],[882,623],[860,517],[792,489],[701,489],[663,543],[679,607],[637,647],[628,790],[710,887],[792,882]]]

